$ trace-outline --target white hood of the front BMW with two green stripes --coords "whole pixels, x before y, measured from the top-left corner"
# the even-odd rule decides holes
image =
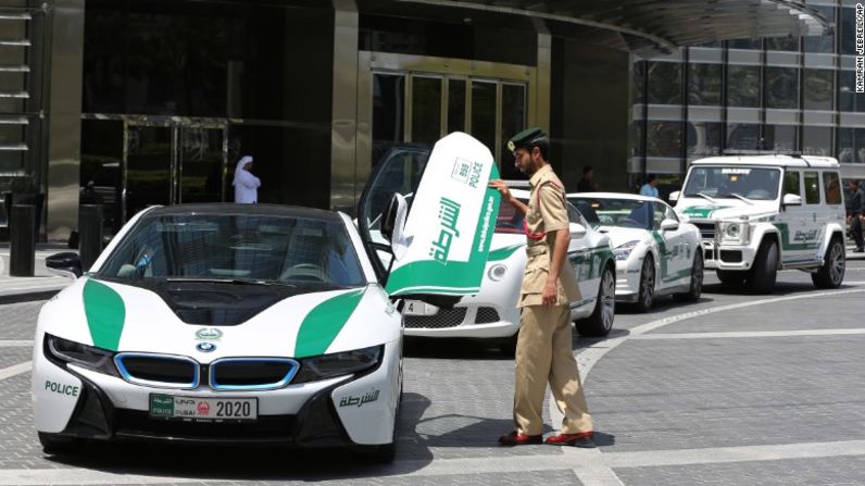
[[[275,299],[241,323],[215,326],[184,322],[152,289],[91,277],[61,291],[42,308],[39,320],[46,333],[85,345],[195,356],[202,362],[228,356],[304,358],[366,348],[398,339],[401,323],[377,285],[291,295]],[[203,341],[215,349],[197,350]]]

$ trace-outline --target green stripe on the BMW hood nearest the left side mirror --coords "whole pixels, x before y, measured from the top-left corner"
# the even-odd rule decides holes
[[[123,298],[113,288],[92,278],[84,284],[83,297],[93,346],[116,351],[126,321]]]

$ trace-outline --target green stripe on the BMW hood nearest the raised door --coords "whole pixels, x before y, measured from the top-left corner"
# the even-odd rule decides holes
[[[294,358],[324,354],[358,308],[365,290],[350,290],[315,306],[300,324]]]

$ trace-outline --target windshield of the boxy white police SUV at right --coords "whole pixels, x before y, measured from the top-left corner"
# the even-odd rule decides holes
[[[685,196],[772,201],[780,180],[778,169],[691,167]]]

